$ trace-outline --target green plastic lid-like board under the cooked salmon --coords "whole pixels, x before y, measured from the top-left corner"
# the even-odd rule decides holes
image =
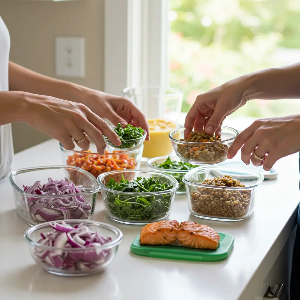
[[[141,245],[140,235],[131,244],[131,252],[137,255],[167,259],[218,261],[227,258],[234,242],[234,237],[228,233],[218,232],[220,243],[217,250],[193,249],[180,246],[151,246]]]

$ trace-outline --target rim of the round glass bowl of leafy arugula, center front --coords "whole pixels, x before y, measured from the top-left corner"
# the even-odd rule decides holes
[[[163,194],[175,192],[176,190],[179,189],[178,181],[173,176],[170,176],[169,174],[166,174],[164,172],[154,172],[154,171],[144,171],[144,170],[118,170],[118,171],[105,172],[105,173],[100,174],[97,177],[97,180],[101,185],[101,190],[104,189],[107,192],[118,193],[118,194],[122,194],[122,195],[132,195],[132,196],[141,195],[141,193],[122,192],[122,191],[118,191],[118,190],[113,190],[102,183],[102,179],[104,176],[111,175],[111,174],[115,175],[118,173],[152,173],[154,175],[159,175],[159,176],[165,177],[165,178],[171,180],[171,182],[173,182],[173,187],[170,190],[164,190],[164,191],[158,191],[158,192],[146,192],[146,193],[143,193],[144,196],[163,195]]]

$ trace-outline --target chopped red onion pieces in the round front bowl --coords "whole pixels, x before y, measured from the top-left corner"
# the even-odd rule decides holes
[[[55,249],[35,247],[35,257],[48,266],[68,271],[88,271],[101,268],[110,259],[111,249],[101,250],[101,246],[110,243],[111,237],[105,238],[82,223],[72,227],[62,221],[61,224],[54,222],[49,226],[54,230],[41,233],[38,243],[54,246]],[[82,250],[74,251],[79,248]]]

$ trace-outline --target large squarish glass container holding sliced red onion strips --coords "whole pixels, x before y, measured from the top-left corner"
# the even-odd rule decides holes
[[[48,183],[48,179],[60,181],[65,177],[81,192],[67,189],[63,194],[32,193],[38,189],[38,182],[43,185]],[[8,179],[13,187],[16,210],[29,225],[66,219],[92,219],[94,216],[100,184],[85,170],[70,166],[35,167],[12,171]],[[26,187],[32,187],[32,192],[28,188],[25,192]]]

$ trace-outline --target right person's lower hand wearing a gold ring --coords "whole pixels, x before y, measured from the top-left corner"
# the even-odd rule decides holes
[[[263,165],[264,170],[269,171],[279,158],[300,151],[299,129],[300,115],[257,120],[236,137],[227,157],[233,158],[241,149],[241,160],[245,164],[251,160],[253,165]],[[265,158],[255,158],[254,151]]]

